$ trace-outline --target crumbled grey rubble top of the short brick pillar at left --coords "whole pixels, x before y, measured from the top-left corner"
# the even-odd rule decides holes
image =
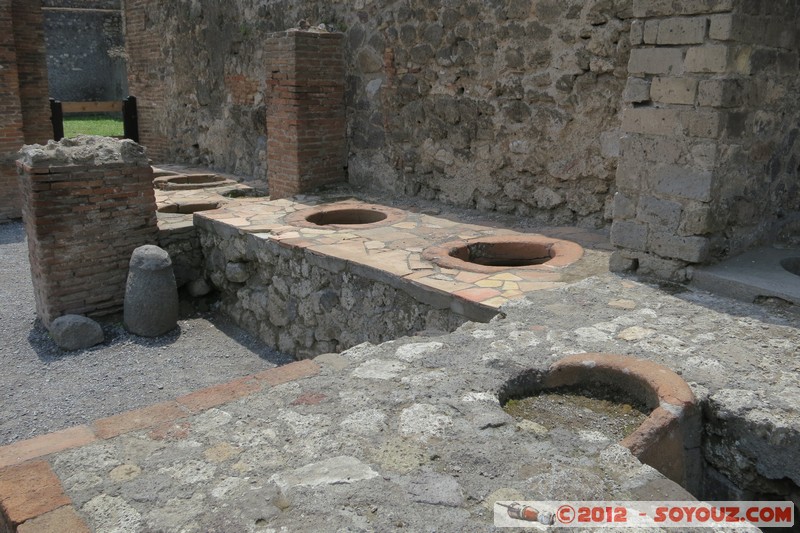
[[[25,145],[19,151],[19,162],[27,167],[104,166],[124,163],[146,167],[150,161],[144,147],[130,139],[113,139],[79,135],[46,145]]]

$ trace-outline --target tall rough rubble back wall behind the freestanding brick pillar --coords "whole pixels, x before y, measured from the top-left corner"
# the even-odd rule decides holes
[[[265,177],[264,37],[306,19],[345,33],[351,182],[602,224],[630,4],[131,0],[142,143],[156,160]]]

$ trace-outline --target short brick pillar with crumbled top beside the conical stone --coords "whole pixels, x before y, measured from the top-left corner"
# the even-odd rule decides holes
[[[17,161],[36,312],[48,327],[64,314],[122,310],[131,253],[158,232],[144,149],[82,139],[25,146]]]

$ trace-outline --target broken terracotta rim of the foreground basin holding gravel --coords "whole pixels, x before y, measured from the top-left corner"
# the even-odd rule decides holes
[[[560,359],[545,373],[522,373],[506,382],[500,401],[574,385],[611,385],[653,411],[620,444],[689,492],[699,488],[701,418],[689,385],[672,370],[625,355],[583,353]]]

